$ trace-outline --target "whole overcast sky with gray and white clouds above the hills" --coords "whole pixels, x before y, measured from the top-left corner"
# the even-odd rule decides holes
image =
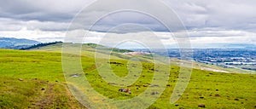
[[[0,0],[0,37],[28,38],[41,42],[63,41],[68,26],[92,0]],[[147,1],[143,1],[144,3]],[[255,0],[162,0],[178,15],[189,32],[192,44],[256,44]],[[142,3],[142,2],[141,2]],[[111,6],[112,3],[106,4]],[[151,6],[148,6],[151,7]],[[97,13],[101,9],[90,10]],[[87,16],[88,17],[88,16]],[[89,19],[90,17],[85,19]],[[108,29],[123,23],[150,28],[163,42],[172,37],[159,22],[143,14],[110,14],[100,20],[85,42],[96,43]],[[143,31],[133,28],[122,34]],[[82,31],[74,28],[72,31]],[[113,33],[115,34],[115,33]],[[119,33],[116,33],[119,34]],[[167,42],[167,40],[169,40]]]

